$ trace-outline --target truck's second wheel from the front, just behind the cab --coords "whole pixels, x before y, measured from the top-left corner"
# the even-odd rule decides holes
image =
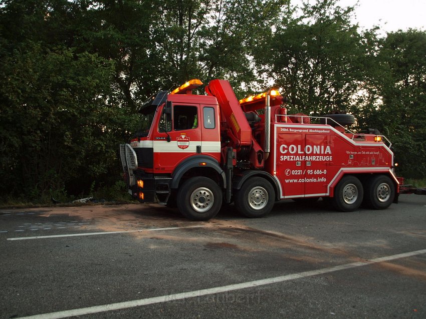
[[[262,177],[250,178],[235,193],[234,202],[237,210],[244,216],[250,218],[263,217],[274,206],[274,187]]]

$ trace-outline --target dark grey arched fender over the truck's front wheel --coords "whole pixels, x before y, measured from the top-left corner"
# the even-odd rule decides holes
[[[205,165],[200,166],[200,163],[205,163]],[[225,171],[222,169],[220,163],[216,159],[206,155],[192,156],[180,162],[171,174],[172,180],[170,188],[178,188],[180,180],[187,171],[192,168],[200,167],[208,167],[214,169],[218,173],[218,175],[221,176],[224,188],[227,188]]]

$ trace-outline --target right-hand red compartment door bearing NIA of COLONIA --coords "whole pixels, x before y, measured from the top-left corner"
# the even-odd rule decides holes
[[[331,149],[326,134],[306,134],[305,137],[305,196],[327,192],[327,163]]]

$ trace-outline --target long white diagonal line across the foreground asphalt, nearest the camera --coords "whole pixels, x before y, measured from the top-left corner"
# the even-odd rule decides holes
[[[86,308],[79,308],[79,309],[71,309],[71,310],[64,310],[64,311],[58,311],[58,312],[50,312],[50,313],[43,313],[43,314],[36,314],[31,315],[27,317],[21,317],[19,319],[57,319],[57,318],[66,318],[70,316],[78,316],[78,315],[85,315],[90,313],[98,313],[98,312],[104,312],[104,311],[111,311],[111,310],[118,310],[118,309],[125,309],[125,308],[132,308],[147,304],[153,304],[153,303],[159,303],[159,302],[167,302],[167,301],[173,301],[173,300],[180,300],[180,299],[186,299],[186,298],[192,298],[192,297],[200,297],[208,294],[216,294],[216,293],[222,293],[227,291],[233,291],[233,290],[240,290],[245,288],[252,288],[277,282],[283,282],[288,280],[294,280],[309,276],[315,276],[323,273],[329,273],[344,269],[350,269],[350,268],[356,268],[361,267],[365,265],[370,265],[382,261],[389,261],[399,258],[406,258],[410,256],[420,255],[426,253],[426,249],[422,250],[416,250],[416,251],[410,251],[405,252],[401,254],[391,255],[391,256],[385,256],[381,258],[374,258],[370,260],[365,261],[359,261],[359,262],[352,262],[347,263],[344,265],[338,265],[334,267],[328,267],[328,268],[322,268],[317,270],[310,270],[310,271],[304,271],[299,273],[293,273],[278,277],[272,277],[272,278],[266,278],[266,279],[260,279],[260,280],[254,280],[254,281],[247,281],[237,284],[231,284],[227,286],[220,286],[220,287],[214,287],[214,288],[207,288],[207,289],[200,289],[200,290],[194,290],[194,291],[187,291],[187,292],[181,292],[181,293],[174,293],[169,295],[163,295],[158,297],[151,297],[151,298],[145,298],[145,299],[139,299],[139,300],[131,300],[131,301],[124,301],[124,302],[117,302],[117,303],[110,303],[110,304],[103,304],[103,305],[97,305],[92,307],[86,307]]]

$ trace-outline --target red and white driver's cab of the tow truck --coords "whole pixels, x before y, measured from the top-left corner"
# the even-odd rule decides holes
[[[224,184],[218,101],[192,95],[197,86],[150,98],[139,109],[146,119],[142,131],[120,146],[129,193],[141,202],[171,204],[179,182],[189,176],[211,172]]]

